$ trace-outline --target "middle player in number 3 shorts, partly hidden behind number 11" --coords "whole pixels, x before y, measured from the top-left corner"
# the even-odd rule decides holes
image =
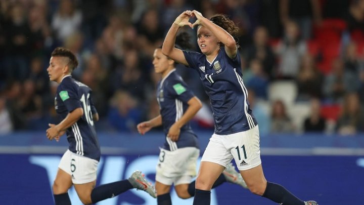
[[[187,33],[177,36],[179,46],[183,47],[181,44],[188,42],[187,36]],[[163,55],[161,48],[155,49],[153,58],[155,72],[162,75],[157,87],[160,115],[141,122],[137,128],[144,135],[153,127],[163,125],[165,142],[159,154],[155,187],[158,205],[171,205],[172,184],[180,198],[186,199],[195,195],[195,181],[191,180],[196,176],[200,149],[189,120],[202,104],[176,72],[175,62]],[[243,178],[232,165],[217,178],[212,187],[226,181],[246,188]]]

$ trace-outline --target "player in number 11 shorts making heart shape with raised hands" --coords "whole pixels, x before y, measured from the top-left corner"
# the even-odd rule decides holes
[[[197,20],[192,24],[191,17]],[[174,47],[180,27],[197,26],[197,43],[202,53]],[[302,201],[283,186],[267,182],[260,160],[258,124],[247,101],[241,59],[233,37],[238,27],[224,15],[204,18],[198,11],[185,11],[173,22],[164,39],[162,53],[194,68],[210,98],[215,131],[202,156],[196,179],[194,204],[210,204],[212,184],[234,158],[249,190],[281,204],[317,204]]]

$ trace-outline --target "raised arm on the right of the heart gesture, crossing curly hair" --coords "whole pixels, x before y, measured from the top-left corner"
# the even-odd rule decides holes
[[[196,16],[197,18],[196,22],[192,24],[193,27],[199,24],[205,26],[224,45],[226,54],[228,54],[230,58],[235,58],[238,48],[234,37],[228,31],[214,24],[209,19],[206,19],[205,17],[202,16],[200,12],[196,10],[192,11],[192,16]],[[228,23],[228,21],[226,21],[226,23]]]

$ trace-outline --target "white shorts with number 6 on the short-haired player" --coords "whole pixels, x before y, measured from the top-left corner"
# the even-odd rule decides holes
[[[73,184],[93,182],[97,177],[99,161],[81,156],[67,150],[59,163],[58,168],[71,175]]]

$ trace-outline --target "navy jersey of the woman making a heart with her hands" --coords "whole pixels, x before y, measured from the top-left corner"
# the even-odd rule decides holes
[[[221,47],[212,62],[208,62],[206,55],[198,52],[184,51],[184,54],[189,66],[198,71],[210,98],[215,133],[228,135],[255,127],[257,121],[249,108],[239,51],[231,59]]]

